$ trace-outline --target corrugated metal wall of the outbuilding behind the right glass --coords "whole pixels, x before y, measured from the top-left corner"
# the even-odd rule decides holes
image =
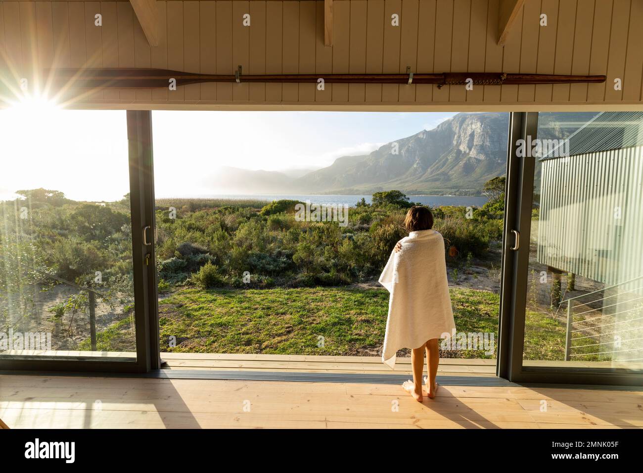
[[[541,165],[539,263],[607,286],[641,276],[643,147]]]

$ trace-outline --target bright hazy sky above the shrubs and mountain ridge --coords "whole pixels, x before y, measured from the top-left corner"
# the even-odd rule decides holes
[[[154,111],[156,195],[192,195],[195,178],[222,166],[320,169],[340,156],[368,154],[433,129],[453,115]],[[77,200],[120,199],[129,192],[125,111],[64,110],[37,99],[0,110],[0,163],[0,200],[39,187]]]

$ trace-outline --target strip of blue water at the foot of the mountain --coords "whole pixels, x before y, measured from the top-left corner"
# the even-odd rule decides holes
[[[300,195],[274,195],[274,194],[208,194],[201,196],[185,196],[185,198],[206,198],[206,199],[253,199],[253,200],[280,200],[292,199],[300,201],[311,201],[312,203],[322,205],[348,205],[354,207],[358,201],[365,198],[367,203],[371,203],[372,196],[346,196],[346,195],[316,195],[316,194],[300,194]],[[482,207],[487,201],[484,196],[408,196],[410,201],[419,202],[422,205],[429,207],[441,207],[442,205],[456,205],[464,207]]]

